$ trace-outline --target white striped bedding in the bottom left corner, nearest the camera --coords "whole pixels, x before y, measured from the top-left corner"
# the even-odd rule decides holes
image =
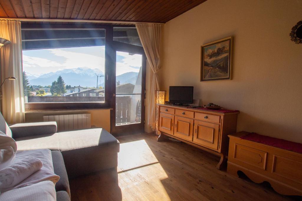
[[[55,201],[55,184],[42,181],[31,186],[18,188],[0,194],[0,201]]]

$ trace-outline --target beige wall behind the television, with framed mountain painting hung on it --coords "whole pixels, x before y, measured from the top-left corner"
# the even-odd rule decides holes
[[[208,0],[164,25],[160,82],[194,86],[194,99],[238,109],[237,131],[302,143],[302,44],[291,28],[300,0]],[[200,46],[234,37],[233,80],[200,82]]]

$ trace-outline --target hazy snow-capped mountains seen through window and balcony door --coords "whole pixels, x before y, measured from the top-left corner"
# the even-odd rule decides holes
[[[41,85],[48,86],[58,78],[59,75],[62,76],[66,85],[71,86],[83,86],[83,87],[92,87],[96,85],[97,77],[95,74],[103,75],[104,73],[95,68],[72,68],[72,69],[64,69],[61,71],[51,72],[47,74],[43,74],[39,77],[28,76],[30,85]],[[120,81],[120,84],[131,83],[135,84],[137,79],[137,72],[127,72],[116,77],[117,81]],[[104,77],[98,78],[98,83],[104,80]],[[102,81],[98,86],[104,86],[104,82]]]

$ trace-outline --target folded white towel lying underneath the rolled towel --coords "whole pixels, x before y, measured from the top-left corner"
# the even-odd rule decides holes
[[[27,177],[19,184],[14,187],[2,189],[2,192],[6,192],[8,190],[17,189],[21,187],[26,187],[32,184],[36,184],[41,181],[52,181],[54,184],[59,181],[60,177],[54,174],[53,171],[53,161],[51,156],[51,151],[49,149],[37,149],[37,150],[29,150],[29,151],[19,151],[16,153],[15,163],[23,160],[26,157],[36,157],[40,159],[43,163],[43,167],[36,171],[31,176]]]

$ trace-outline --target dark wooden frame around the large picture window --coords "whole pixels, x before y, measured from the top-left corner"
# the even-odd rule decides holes
[[[21,29],[105,29],[105,99],[104,102],[33,102],[24,103],[26,110],[112,108],[113,25],[98,24],[22,24]],[[23,71],[23,69],[22,69]]]

